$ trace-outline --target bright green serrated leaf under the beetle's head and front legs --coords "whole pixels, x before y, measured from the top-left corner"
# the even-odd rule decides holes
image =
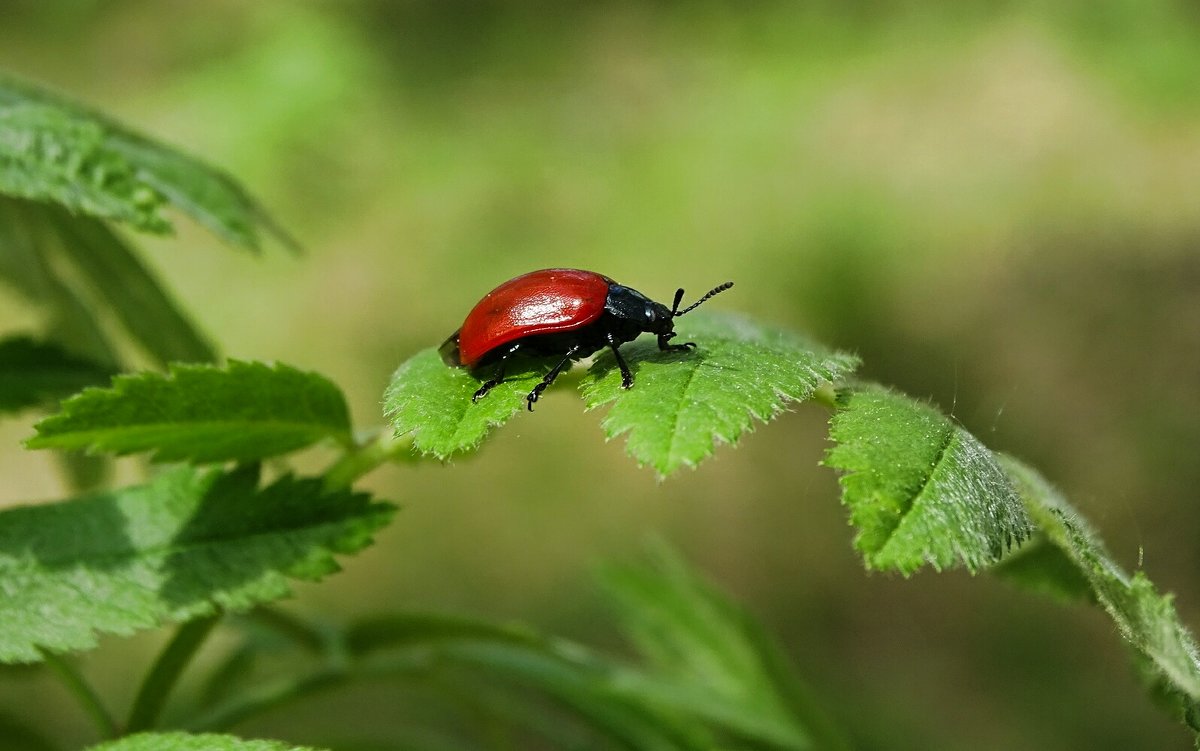
[[[736,443],[756,420],[770,420],[858,364],[738,316],[695,313],[677,331],[677,341],[696,342],[696,349],[665,353],[653,340],[622,347],[632,389],[620,387],[610,352],[596,358],[581,386],[588,409],[612,404],[602,420],[608,437],[626,434],[629,452],[659,475],[695,467],[714,443]]]

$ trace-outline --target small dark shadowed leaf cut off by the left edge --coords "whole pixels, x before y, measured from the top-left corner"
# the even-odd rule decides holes
[[[0,340],[0,413],[43,407],[110,376],[56,344],[29,336]]]

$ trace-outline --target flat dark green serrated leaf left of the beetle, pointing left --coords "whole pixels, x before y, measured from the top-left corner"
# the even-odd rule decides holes
[[[175,365],[168,376],[118,376],[42,420],[30,449],[152,451],[154,461],[254,461],[324,438],[349,445],[338,387],[287,365],[230,360],[226,368]]]

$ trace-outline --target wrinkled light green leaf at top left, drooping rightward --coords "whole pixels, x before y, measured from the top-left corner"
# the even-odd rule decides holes
[[[260,230],[290,245],[223,173],[30,84],[0,78],[0,193],[76,214],[170,230],[173,205],[226,241],[257,251]]]

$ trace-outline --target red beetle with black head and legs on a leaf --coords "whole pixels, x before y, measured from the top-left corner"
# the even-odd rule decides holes
[[[526,396],[529,410],[571,360],[608,347],[620,368],[620,385],[634,385],[634,374],[620,356],[620,346],[643,332],[659,337],[662,352],[686,352],[695,342],[671,344],[674,319],[691,312],[713,295],[733,287],[725,282],[679,310],[683,289],[670,308],[613,280],[581,269],[542,269],[504,282],[467,313],[462,326],[438,348],[449,366],[478,371],[496,365],[492,377],[470,397],[478,402],[504,381],[509,358],[518,352],[559,358],[545,378]]]

